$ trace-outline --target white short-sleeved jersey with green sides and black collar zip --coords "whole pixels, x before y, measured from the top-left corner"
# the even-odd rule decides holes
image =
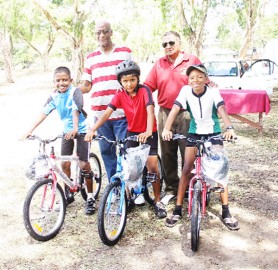
[[[190,113],[189,133],[206,135],[221,132],[217,109],[224,105],[224,101],[217,88],[205,87],[205,91],[197,95],[189,85],[185,85],[175,104]]]

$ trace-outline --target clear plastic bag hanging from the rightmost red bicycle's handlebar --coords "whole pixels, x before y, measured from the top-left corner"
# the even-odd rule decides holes
[[[224,148],[212,145],[207,149],[207,155],[202,158],[202,173],[210,184],[213,182],[226,187],[229,176],[229,160],[224,154]]]

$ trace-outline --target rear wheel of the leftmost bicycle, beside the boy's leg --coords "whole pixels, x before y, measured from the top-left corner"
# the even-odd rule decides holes
[[[95,153],[90,153],[90,165],[91,170],[94,173],[93,176],[93,192],[95,199],[98,198],[101,182],[102,182],[102,174],[101,174],[101,165],[98,156]],[[80,174],[80,184],[81,184],[81,195],[82,198],[87,200],[87,186],[84,177]]]

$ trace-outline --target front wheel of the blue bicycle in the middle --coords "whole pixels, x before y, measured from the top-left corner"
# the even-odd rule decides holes
[[[126,195],[121,196],[121,191],[120,179],[109,183],[99,203],[98,232],[101,241],[108,246],[118,243],[126,225],[127,199]]]

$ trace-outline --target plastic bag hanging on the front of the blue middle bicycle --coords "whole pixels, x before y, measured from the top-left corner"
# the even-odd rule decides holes
[[[150,148],[151,147],[148,144],[141,144],[137,147],[126,149],[127,154],[123,159],[124,180],[136,181],[142,177]]]

